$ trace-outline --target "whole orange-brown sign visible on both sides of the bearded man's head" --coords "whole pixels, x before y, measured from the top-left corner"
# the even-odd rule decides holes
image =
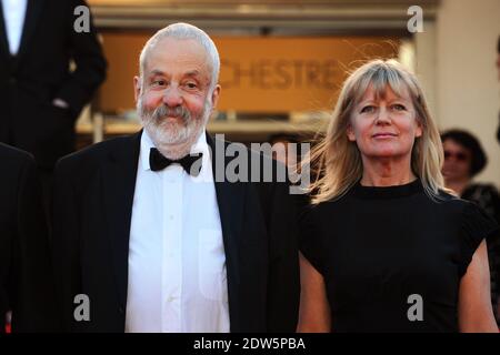
[[[146,34],[104,34],[109,73],[104,112],[134,108],[132,78]],[[381,37],[216,37],[222,87],[218,109],[239,112],[332,108],[348,70],[371,58],[398,55],[399,41]]]

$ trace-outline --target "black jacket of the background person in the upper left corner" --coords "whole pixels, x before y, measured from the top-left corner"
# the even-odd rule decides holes
[[[78,33],[74,8],[83,0],[28,0],[21,44],[10,54],[0,7],[0,142],[53,168],[74,149],[74,120],[104,80],[106,60],[91,27]],[[70,60],[77,69],[70,71]],[[70,109],[52,104],[64,100]]]

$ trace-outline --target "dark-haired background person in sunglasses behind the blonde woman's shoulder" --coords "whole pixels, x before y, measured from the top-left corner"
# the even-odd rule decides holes
[[[473,178],[488,163],[479,140],[463,130],[449,130],[441,134],[444,150],[442,174],[444,184],[461,199],[472,201],[488,215],[500,223],[500,195],[492,184],[474,183]],[[487,241],[491,276],[491,301],[496,310],[497,323],[500,322],[499,277],[500,277],[500,236],[490,235]]]

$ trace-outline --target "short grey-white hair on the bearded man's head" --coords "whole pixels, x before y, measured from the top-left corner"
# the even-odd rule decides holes
[[[141,85],[143,81],[143,75],[146,71],[146,62],[150,54],[150,52],[154,49],[154,47],[160,42],[161,40],[166,38],[171,38],[176,40],[194,40],[198,43],[200,43],[207,51],[207,54],[210,58],[211,65],[212,65],[212,77],[210,79],[210,87],[213,90],[216,84],[219,81],[219,70],[220,70],[220,59],[219,59],[219,52],[217,50],[216,44],[211,40],[211,38],[201,29],[189,24],[189,23],[172,23],[161,30],[159,30],[157,33],[154,33],[153,37],[151,37],[148,42],[146,43],[144,48],[141,51],[141,55],[139,58],[139,70],[140,70],[140,78],[141,78]]]

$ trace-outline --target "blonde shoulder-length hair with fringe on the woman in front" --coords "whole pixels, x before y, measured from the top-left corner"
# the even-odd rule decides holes
[[[348,140],[347,129],[354,106],[369,85],[372,85],[377,98],[383,98],[388,87],[400,97],[404,89],[408,90],[422,128],[422,135],[416,139],[411,153],[411,169],[420,178],[426,193],[437,199],[439,191],[446,190],[439,131],[417,78],[391,59],[373,60],[361,65],[343,83],[326,136],[312,150],[310,159],[303,162],[316,170],[316,178],[308,189],[311,203],[339,199],[362,178],[361,154],[356,142]]]

